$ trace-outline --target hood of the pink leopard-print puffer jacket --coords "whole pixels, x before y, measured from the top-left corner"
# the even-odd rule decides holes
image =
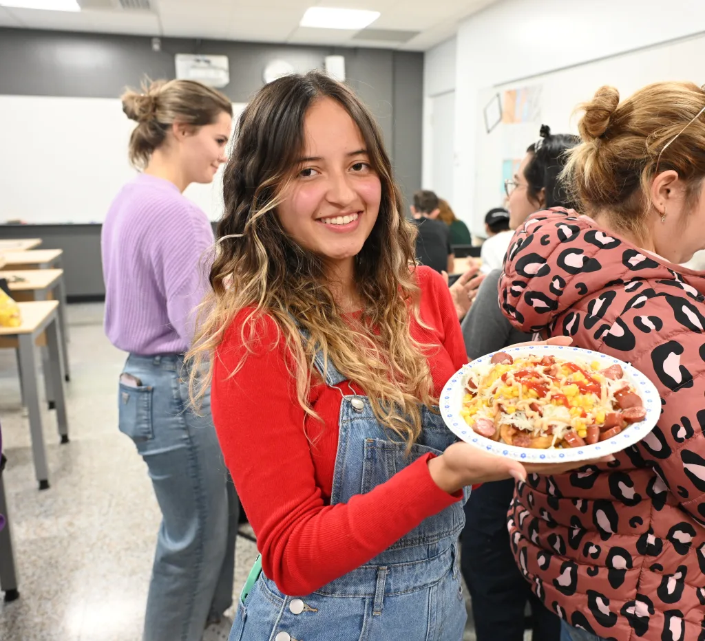
[[[499,283],[499,301],[518,329],[550,331],[556,317],[581,299],[616,285],[626,285],[628,291],[630,283],[636,296],[636,282],[644,280],[658,280],[705,300],[702,273],[639,249],[587,216],[555,208],[530,216],[515,233]],[[591,301],[591,314],[599,314],[595,307],[600,301]]]

